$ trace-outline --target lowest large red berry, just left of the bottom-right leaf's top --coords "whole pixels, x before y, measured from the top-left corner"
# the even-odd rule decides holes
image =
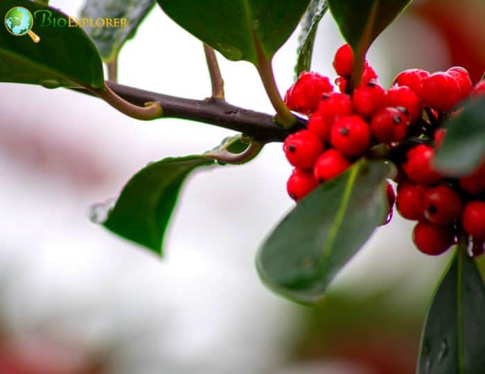
[[[455,233],[453,227],[435,225],[427,221],[414,226],[413,241],[418,250],[424,254],[436,256],[446,252],[453,244]]]

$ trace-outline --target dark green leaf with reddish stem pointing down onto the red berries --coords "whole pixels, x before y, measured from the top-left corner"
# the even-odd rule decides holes
[[[362,77],[369,46],[411,0],[327,0],[327,3],[340,32],[353,49],[352,80],[356,86]]]

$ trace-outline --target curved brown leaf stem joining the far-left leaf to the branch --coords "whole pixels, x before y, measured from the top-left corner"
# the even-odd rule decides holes
[[[164,114],[159,102],[144,102],[143,105],[145,106],[134,105],[124,100],[123,97],[116,95],[106,82],[104,88],[89,88],[89,91],[105,100],[114,109],[137,120],[155,120],[156,118],[161,118]]]

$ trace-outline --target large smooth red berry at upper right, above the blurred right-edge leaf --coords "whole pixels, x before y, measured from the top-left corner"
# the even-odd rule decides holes
[[[460,86],[448,73],[433,73],[423,80],[421,98],[436,111],[451,111],[461,98]]]

